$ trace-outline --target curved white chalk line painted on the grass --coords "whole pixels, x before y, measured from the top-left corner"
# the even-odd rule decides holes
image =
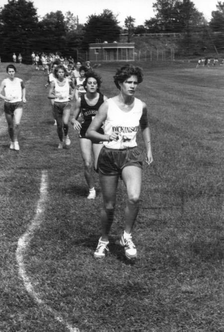
[[[29,224],[26,232],[18,239],[17,249],[16,249],[16,261],[18,264],[19,276],[23,281],[23,285],[28,292],[28,294],[33,298],[33,300],[38,303],[38,305],[43,306],[47,309],[54,318],[66,326],[69,332],[80,332],[78,328],[72,327],[68,324],[58,313],[45,304],[45,302],[39,297],[38,293],[34,290],[32,283],[26,274],[25,264],[23,256],[28,248],[32,237],[34,236],[35,230],[40,227],[42,220],[44,218],[44,209],[47,201],[47,187],[48,187],[48,173],[46,170],[42,171],[41,185],[40,185],[40,197],[37,202],[36,213],[34,219]]]

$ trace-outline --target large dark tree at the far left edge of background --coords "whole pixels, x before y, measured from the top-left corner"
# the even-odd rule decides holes
[[[21,53],[23,59],[35,46],[38,17],[33,2],[10,0],[0,8],[1,59],[11,60],[12,53]]]

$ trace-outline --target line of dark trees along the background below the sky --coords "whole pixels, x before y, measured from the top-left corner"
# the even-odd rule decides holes
[[[218,1],[210,22],[191,0],[157,0],[153,10],[154,17],[144,25],[135,26],[135,18],[127,16],[121,27],[109,9],[88,16],[87,22],[80,24],[78,13],[57,10],[39,19],[33,2],[9,0],[0,7],[1,60],[10,61],[13,52],[22,53],[27,61],[32,51],[69,56],[77,50],[87,51],[89,43],[119,41],[121,35],[130,42],[133,34],[144,33],[181,33],[179,50],[188,55],[214,46],[223,50],[224,2]]]

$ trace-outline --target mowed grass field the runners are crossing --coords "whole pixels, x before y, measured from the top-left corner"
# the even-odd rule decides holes
[[[98,196],[88,201],[78,134],[70,126],[70,149],[57,149],[46,76],[18,68],[27,90],[19,153],[9,151],[0,116],[0,332],[224,331],[224,68],[140,65],[144,81],[136,97],[148,105],[154,164],[143,169],[134,264],[117,245],[126,199],[121,181],[110,255],[93,258],[98,177]],[[98,69],[108,97],[117,92],[117,66]],[[141,135],[138,141],[144,151]],[[23,256],[38,304],[18,274],[15,253],[34,220],[43,170],[44,213]]]

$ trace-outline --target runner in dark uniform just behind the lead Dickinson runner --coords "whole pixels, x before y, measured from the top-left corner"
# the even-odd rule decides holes
[[[99,107],[104,103],[105,100],[107,100],[107,97],[100,92],[101,83],[101,78],[96,73],[88,72],[86,74],[86,79],[83,83],[86,93],[81,94],[76,101],[76,107],[72,118],[74,129],[79,131],[80,148],[84,162],[84,176],[89,187],[89,195],[87,197],[88,199],[96,198],[96,190],[94,187],[92,172],[93,166],[95,169],[97,169],[98,156],[103,147],[103,144],[101,140],[90,140],[89,138],[86,138],[86,131],[95,115],[97,114]],[[80,124],[80,122],[77,120],[80,112],[82,113],[84,119],[82,124]],[[102,128],[99,129],[99,133],[104,133]],[[94,155],[94,161],[92,158],[92,151]]]

